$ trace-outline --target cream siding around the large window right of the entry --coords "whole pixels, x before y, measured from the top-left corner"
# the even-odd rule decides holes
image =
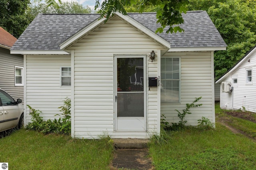
[[[180,103],[161,103],[161,114],[166,116],[166,121],[178,123],[177,109],[182,113],[186,104],[191,104],[195,98],[202,96],[196,104],[200,107],[191,108],[191,115],[186,115],[187,125],[197,125],[202,116],[215,123],[214,117],[214,85],[213,85],[213,56],[211,52],[184,52],[166,53],[164,57],[180,57]]]

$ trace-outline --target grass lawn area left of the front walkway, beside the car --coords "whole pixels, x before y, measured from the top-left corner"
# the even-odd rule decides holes
[[[106,170],[113,151],[108,140],[72,139],[25,129],[0,139],[0,143],[0,162],[19,170]]]

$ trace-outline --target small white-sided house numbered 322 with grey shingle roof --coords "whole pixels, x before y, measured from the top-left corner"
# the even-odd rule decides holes
[[[213,56],[226,44],[205,11],[183,18],[185,32],[156,34],[156,13],[116,13],[106,23],[98,14],[39,14],[11,49],[26,62],[24,106],[54,119],[70,97],[77,138],[149,138],[161,114],[178,122],[174,109],[200,96],[188,125],[202,116],[214,123]]]

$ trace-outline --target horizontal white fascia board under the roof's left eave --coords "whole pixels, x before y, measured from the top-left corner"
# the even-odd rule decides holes
[[[62,50],[11,50],[11,54],[22,54],[22,55],[70,55],[70,53]]]

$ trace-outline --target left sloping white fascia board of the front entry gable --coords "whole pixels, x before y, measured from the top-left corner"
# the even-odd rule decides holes
[[[106,18],[102,18],[100,20],[95,20],[94,22],[90,23],[86,27],[80,29],[80,31],[78,31],[77,33],[75,33],[74,35],[72,35],[71,37],[66,39],[63,43],[61,43],[60,49],[62,49],[62,50],[66,49],[67,47],[72,45],[74,42],[76,42],[79,39],[81,39],[82,37],[84,37],[84,35],[86,35],[88,32],[92,31],[99,25],[103,24],[105,20],[106,20]]]

